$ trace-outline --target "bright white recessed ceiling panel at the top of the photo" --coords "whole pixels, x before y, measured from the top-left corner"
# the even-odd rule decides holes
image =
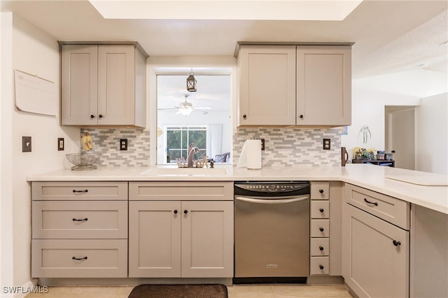
[[[340,21],[363,0],[89,1],[106,19]]]

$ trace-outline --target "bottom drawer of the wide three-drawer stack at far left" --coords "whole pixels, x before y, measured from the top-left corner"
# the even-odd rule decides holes
[[[127,277],[127,240],[33,239],[31,277]]]

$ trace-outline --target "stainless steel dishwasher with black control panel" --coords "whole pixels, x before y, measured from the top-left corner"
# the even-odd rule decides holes
[[[234,283],[306,283],[309,181],[235,182]]]

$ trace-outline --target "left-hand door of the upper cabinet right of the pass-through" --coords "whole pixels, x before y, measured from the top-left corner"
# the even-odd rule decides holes
[[[239,126],[295,125],[295,46],[241,46]]]

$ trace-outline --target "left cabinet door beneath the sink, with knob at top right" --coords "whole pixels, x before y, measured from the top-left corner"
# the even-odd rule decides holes
[[[129,202],[129,277],[181,277],[180,202]]]

